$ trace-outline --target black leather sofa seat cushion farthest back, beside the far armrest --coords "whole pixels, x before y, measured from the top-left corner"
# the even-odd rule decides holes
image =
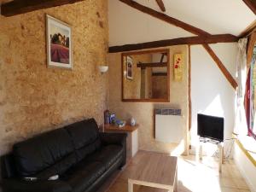
[[[103,146],[96,153],[86,157],[85,160],[101,162],[108,169],[122,155],[123,150],[124,148],[120,145]]]

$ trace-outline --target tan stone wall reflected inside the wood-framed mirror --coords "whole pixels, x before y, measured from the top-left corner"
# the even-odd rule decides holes
[[[133,79],[127,79],[126,75],[124,76],[124,90],[125,90],[124,96],[125,96],[125,99],[139,99],[141,98],[141,68],[137,67],[137,63],[151,62],[152,57],[150,54],[144,54],[144,55],[131,55],[131,58],[133,61],[133,65],[132,65]],[[124,71],[126,71],[126,59],[124,59]]]

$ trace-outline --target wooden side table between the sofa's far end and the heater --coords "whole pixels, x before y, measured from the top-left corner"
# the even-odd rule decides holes
[[[128,134],[126,140],[127,158],[134,157],[138,151],[138,140],[137,140],[137,128],[136,126],[125,125],[119,128],[116,125],[106,124],[104,125],[103,132],[125,132]]]

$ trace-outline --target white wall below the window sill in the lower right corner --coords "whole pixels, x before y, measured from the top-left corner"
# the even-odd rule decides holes
[[[241,175],[246,179],[251,192],[256,192],[256,167],[248,160],[237,144],[235,144],[234,148],[234,160]]]

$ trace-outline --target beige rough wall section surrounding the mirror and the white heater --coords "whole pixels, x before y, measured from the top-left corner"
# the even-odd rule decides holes
[[[160,143],[154,139],[154,108],[181,108],[183,112],[183,143],[180,143],[181,150],[185,153],[188,147],[188,115],[189,115],[189,96],[188,96],[188,46],[172,46],[170,49],[171,62],[171,84],[170,102],[121,102],[121,54],[108,54],[109,79],[108,79],[108,105],[109,109],[116,113],[118,118],[137,119],[139,149],[171,153],[177,149],[177,144]],[[173,81],[173,55],[183,53],[183,81]]]

